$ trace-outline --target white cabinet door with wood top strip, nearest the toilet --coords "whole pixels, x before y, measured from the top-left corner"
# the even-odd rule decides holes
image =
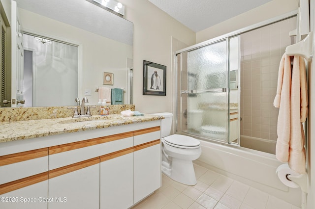
[[[135,147],[134,152],[134,203],[139,202],[161,185],[159,140]]]

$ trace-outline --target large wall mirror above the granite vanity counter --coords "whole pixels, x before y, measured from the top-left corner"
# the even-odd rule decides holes
[[[16,0],[16,3],[24,36],[23,56],[32,60],[24,62],[29,73],[24,76],[28,79],[23,80],[26,83],[23,91],[28,86],[33,88],[32,102],[28,99],[24,106],[76,105],[76,97],[80,100],[87,97],[90,105],[97,104],[100,87],[123,89],[124,104],[132,103],[131,22],[87,0]],[[40,39],[56,43],[53,47]],[[35,40],[34,46],[31,40]],[[51,76],[53,70],[57,76]],[[113,74],[111,85],[104,84],[104,72]],[[39,83],[41,87],[37,87]],[[26,98],[30,96],[23,99]]]

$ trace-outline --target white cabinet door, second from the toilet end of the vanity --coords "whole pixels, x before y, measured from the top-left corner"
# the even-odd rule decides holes
[[[127,209],[133,205],[133,149],[121,153],[115,158],[101,157],[100,209]]]

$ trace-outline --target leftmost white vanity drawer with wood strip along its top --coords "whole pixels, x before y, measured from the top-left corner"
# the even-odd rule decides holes
[[[1,156],[0,184],[47,172],[47,167],[47,148]]]

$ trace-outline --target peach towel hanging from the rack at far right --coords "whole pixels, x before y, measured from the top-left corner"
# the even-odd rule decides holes
[[[308,93],[302,57],[294,56],[291,75],[290,58],[286,54],[282,56],[274,106],[279,107],[276,157],[282,162],[288,162],[292,170],[305,173],[302,122],[305,122],[308,114]]]

